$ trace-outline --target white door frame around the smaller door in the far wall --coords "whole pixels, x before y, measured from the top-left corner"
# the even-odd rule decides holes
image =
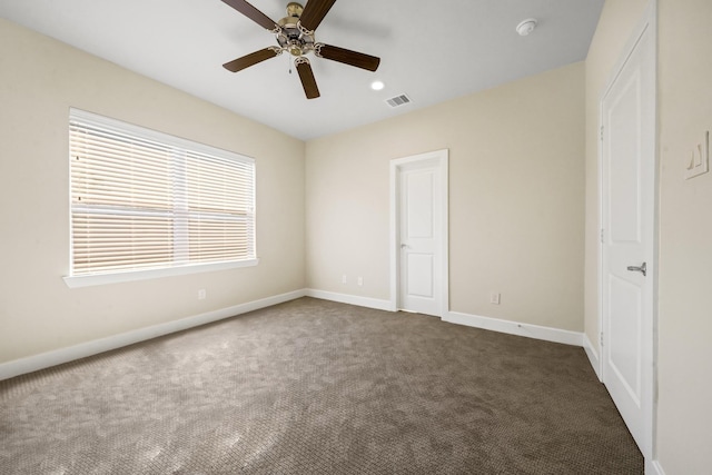
[[[400,236],[399,236],[399,178],[404,168],[413,165],[428,166],[439,170],[441,178],[441,204],[442,204],[442,229],[441,229],[441,318],[445,318],[449,311],[449,258],[448,258],[448,158],[449,150],[434,150],[425,154],[413,155],[390,160],[390,303],[389,310],[400,309]],[[429,167],[428,167],[429,168]]]

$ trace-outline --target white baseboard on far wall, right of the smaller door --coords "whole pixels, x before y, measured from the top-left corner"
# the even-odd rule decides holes
[[[478,315],[461,314],[457,311],[448,311],[446,316],[443,317],[443,320],[449,321],[451,324],[465,325],[468,327],[500,331],[510,335],[525,336],[553,343],[563,343],[565,345],[583,346],[583,334],[578,331],[521,324],[517,321],[481,317]]]

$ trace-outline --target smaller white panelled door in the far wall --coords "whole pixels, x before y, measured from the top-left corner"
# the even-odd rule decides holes
[[[446,167],[443,150],[395,164],[398,309],[443,316],[446,298]],[[445,155],[446,157],[446,155]]]

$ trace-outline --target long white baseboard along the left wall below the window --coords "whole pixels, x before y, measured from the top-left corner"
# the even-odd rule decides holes
[[[0,364],[0,380],[304,297],[295,290]]]

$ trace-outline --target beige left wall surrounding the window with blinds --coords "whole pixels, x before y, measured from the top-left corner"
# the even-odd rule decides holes
[[[4,19],[0,105],[0,363],[304,288],[304,142]],[[259,266],[69,289],[70,107],[255,157]]]

